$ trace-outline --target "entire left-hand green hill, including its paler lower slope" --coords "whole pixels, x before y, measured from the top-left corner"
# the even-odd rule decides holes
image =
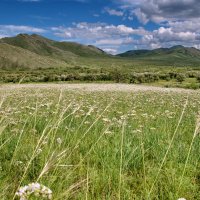
[[[0,39],[0,67],[58,68],[70,65],[79,57],[104,58],[109,55],[92,45],[57,42],[36,34]]]

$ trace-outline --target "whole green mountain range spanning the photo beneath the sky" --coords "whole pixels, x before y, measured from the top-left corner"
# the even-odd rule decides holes
[[[58,42],[36,34],[0,39],[0,68],[58,68],[82,62],[87,65],[86,60],[93,60],[93,63],[98,60],[99,65],[106,60],[110,65],[120,61],[145,65],[200,66],[200,50],[179,45],[154,50],[131,50],[113,56],[92,45]]]

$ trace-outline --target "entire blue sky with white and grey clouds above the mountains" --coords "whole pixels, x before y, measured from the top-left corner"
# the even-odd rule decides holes
[[[117,54],[200,49],[200,0],[0,0],[0,38],[39,34]]]

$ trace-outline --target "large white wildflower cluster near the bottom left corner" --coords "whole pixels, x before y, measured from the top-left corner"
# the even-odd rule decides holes
[[[39,183],[30,183],[24,187],[20,187],[16,192],[16,195],[20,200],[27,200],[30,195],[52,199],[52,191],[48,187]]]

